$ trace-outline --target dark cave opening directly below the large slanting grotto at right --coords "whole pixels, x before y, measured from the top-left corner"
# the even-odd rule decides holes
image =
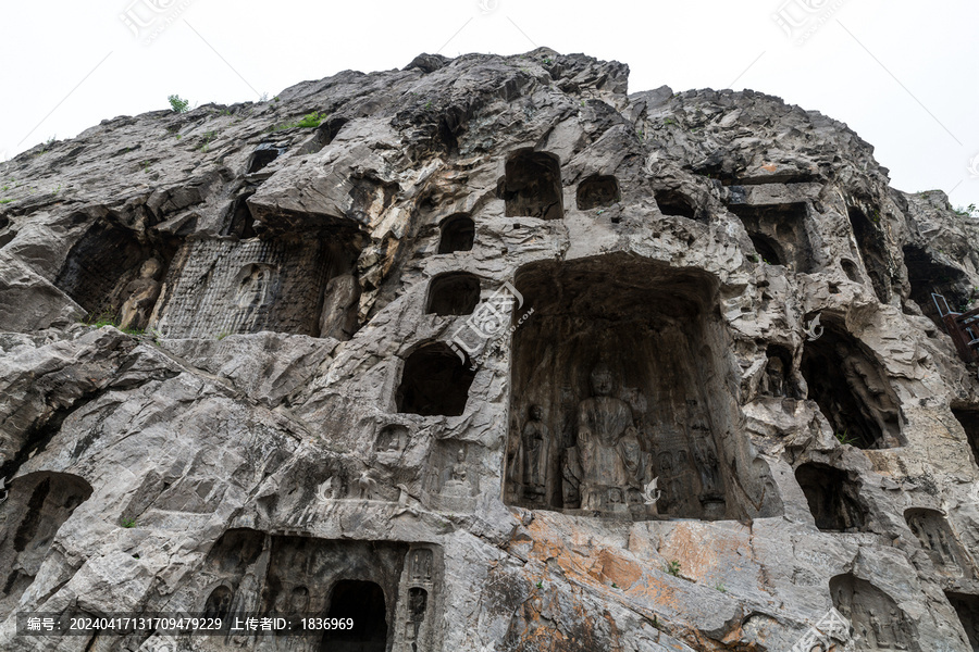
[[[809,503],[816,527],[830,532],[863,531],[867,509],[859,485],[846,472],[808,462],[795,469],[795,480]]]

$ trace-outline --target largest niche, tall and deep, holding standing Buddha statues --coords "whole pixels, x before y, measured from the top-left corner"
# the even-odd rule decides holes
[[[513,335],[508,504],[632,519],[782,512],[740,435],[714,277],[610,254],[526,265],[517,289],[534,314]]]

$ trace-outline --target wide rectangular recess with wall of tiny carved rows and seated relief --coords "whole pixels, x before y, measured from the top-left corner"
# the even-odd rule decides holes
[[[166,337],[275,330],[349,339],[356,330],[356,253],[342,243],[194,240],[178,255],[184,262],[166,279],[158,309],[156,326]]]

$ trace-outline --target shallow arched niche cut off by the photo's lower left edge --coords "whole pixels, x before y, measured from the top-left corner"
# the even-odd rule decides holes
[[[90,496],[88,482],[64,473],[32,473],[11,482],[0,504],[0,618],[16,606],[58,530]]]

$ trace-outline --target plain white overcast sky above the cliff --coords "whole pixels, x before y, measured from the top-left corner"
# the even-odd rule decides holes
[[[4,0],[2,16],[0,161],[172,93],[231,104],[420,52],[547,46],[628,63],[630,92],[779,96],[850,125],[894,187],[979,204],[976,0]]]

